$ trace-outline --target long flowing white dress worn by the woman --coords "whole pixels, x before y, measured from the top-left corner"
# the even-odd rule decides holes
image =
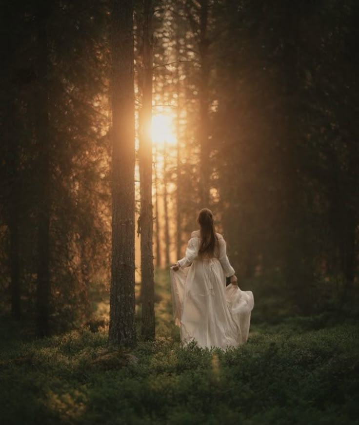
[[[218,236],[213,258],[199,258],[199,232],[192,232],[180,269],[171,269],[172,303],[181,341],[197,341],[199,347],[236,347],[247,341],[252,291],[237,285],[226,287],[226,277],[235,274],[226,254],[226,243]]]

